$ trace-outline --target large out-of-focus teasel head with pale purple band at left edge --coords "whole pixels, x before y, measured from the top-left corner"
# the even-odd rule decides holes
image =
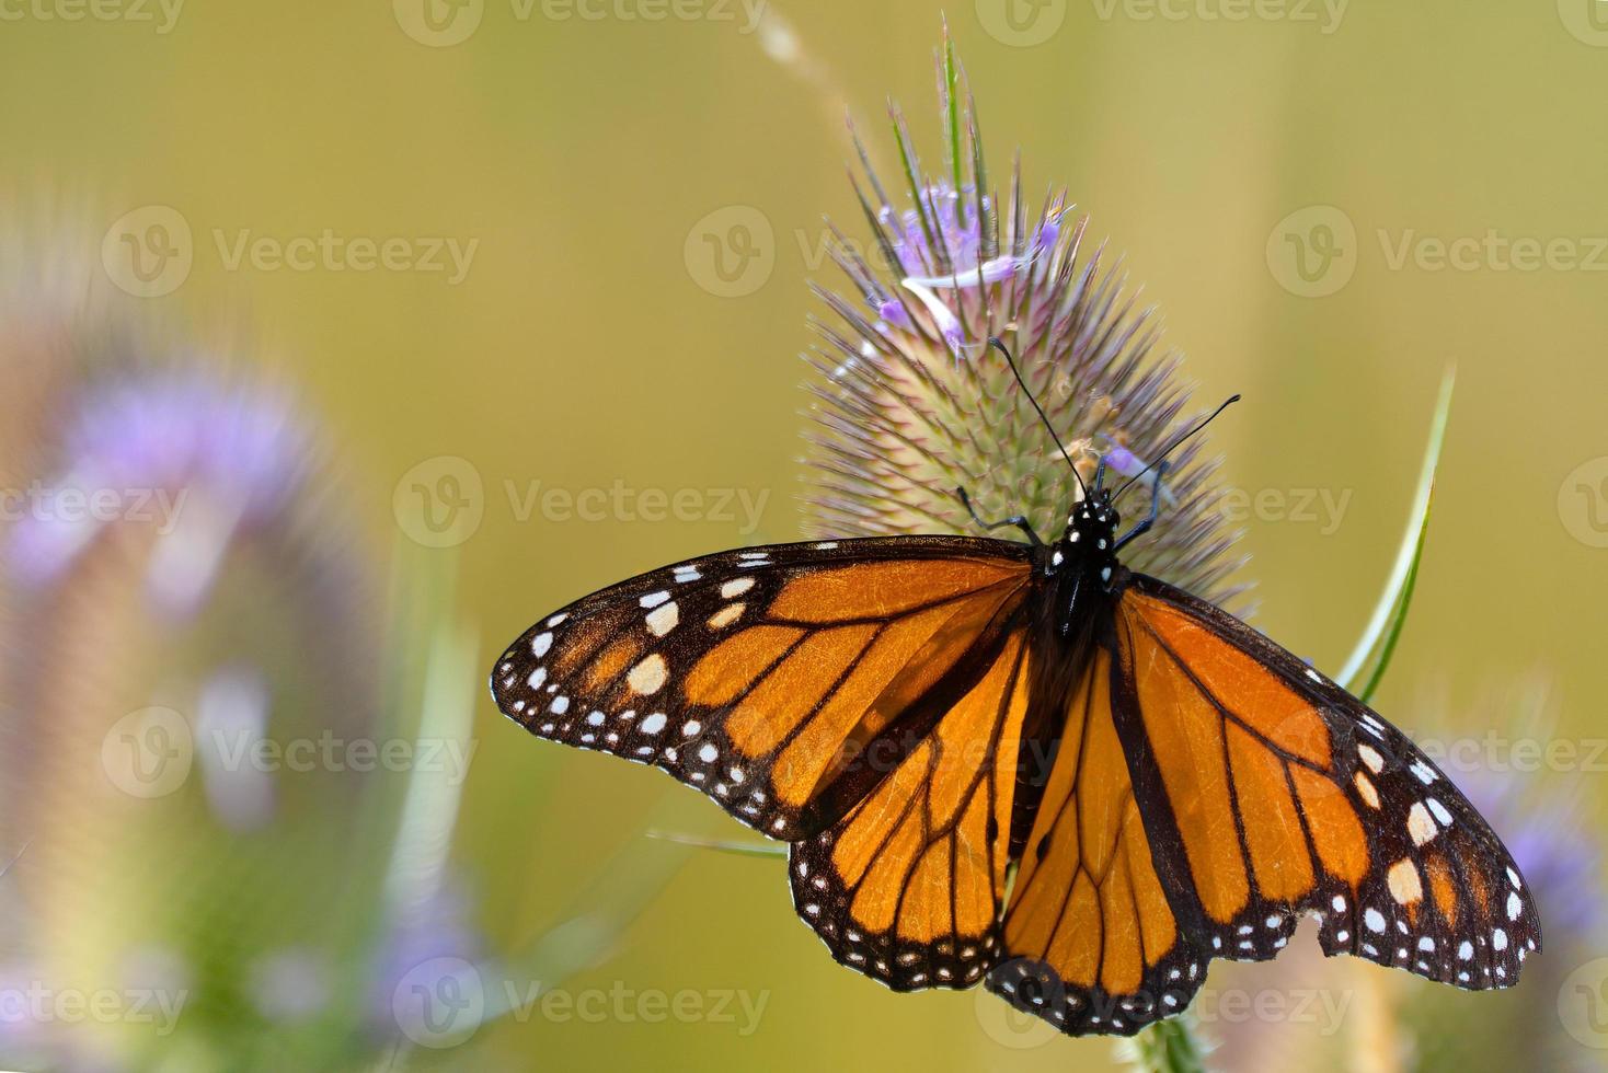
[[[63,316],[80,361],[0,522],[0,855],[26,847],[0,949],[53,993],[154,989],[175,1020],[29,1023],[18,1060],[322,1065],[264,1020],[299,1007],[262,996],[363,940],[373,556],[289,392],[175,329]]]

